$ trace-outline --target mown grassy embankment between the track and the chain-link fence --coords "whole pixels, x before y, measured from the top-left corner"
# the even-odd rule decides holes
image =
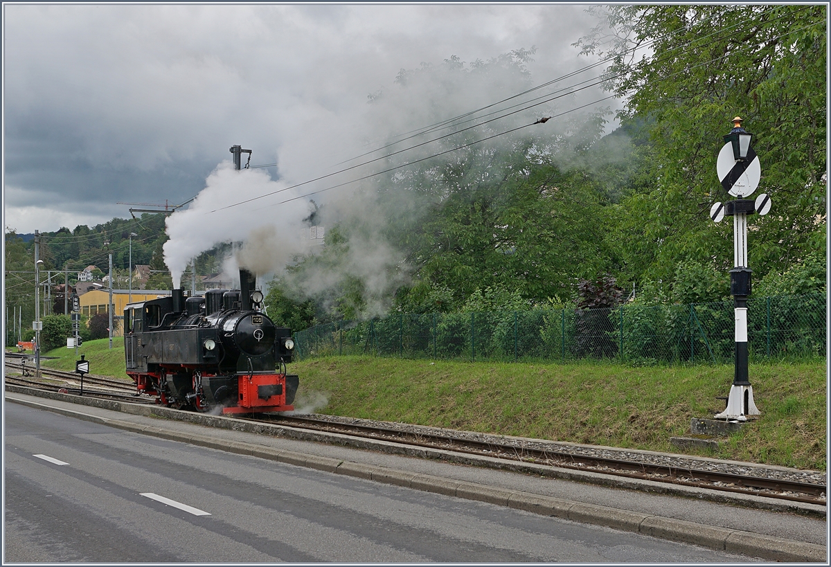
[[[125,377],[120,339],[84,343],[91,372]],[[45,365],[75,369],[75,353]],[[679,452],[671,436],[724,407],[732,365],[627,367],[614,363],[441,362],[331,357],[289,365],[304,411],[503,435]],[[761,416],[719,451],[689,454],[825,470],[823,361],[753,364]]]

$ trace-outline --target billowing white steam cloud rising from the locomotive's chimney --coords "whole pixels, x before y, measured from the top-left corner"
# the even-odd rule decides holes
[[[308,242],[302,240],[307,219],[314,210],[309,199],[325,205],[319,211],[317,224],[332,227],[342,220],[357,220],[364,227],[361,235],[351,235],[349,247],[338,259],[337,265],[327,266],[328,271],[318,270],[302,275],[302,281],[295,281],[293,288],[300,288],[308,297],[334,288],[344,276],[359,279],[366,290],[366,314],[382,314],[386,305],[380,298],[407,279],[407,267],[402,263],[401,253],[381,236],[385,219],[391,211],[384,207],[411,210],[414,215],[426,209],[424,195],[413,191],[400,190],[399,195],[384,200],[381,205],[376,199],[381,183],[376,178],[353,182],[364,175],[383,170],[391,165],[412,162],[427,155],[433,155],[455,145],[461,145],[477,137],[494,132],[506,131],[518,125],[534,122],[541,116],[556,111],[554,106],[538,106],[532,110],[509,116],[493,123],[489,130],[479,134],[465,133],[440,144],[424,145],[396,155],[388,161],[376,161],[371,165],[334,175],[325,180],[305,184],[330,171],[348,167],[368,160],[378,154],[355,159],[366,150],[380,147],[395,140],[402,133],[413,131],[452,116],[459,116],[479,106],[486,106],[530,85],[527,73],[509,64],[492,65],[481,71],[477,62],[465,71],[452,70],[450,65],[402,73],[396,84],[382,89],[373,96],[371,104],[361,101],[352,105],[341,102],[337,110],[322,112],[320,116],[303,116],[305,124],[297,127],[296,136],[290,144],[278,148],[280,175],[282,180],[274,181],[266,170],[234,170],[229,161],[221,163],[211,175],[204,190],[188,210],[179,210],[167,220],[170,240],[165,244],[165,262],[168,265],[175,286],[187,264],[204,250],[216,244],[243,242],[232,258],[224,263],[225,273],[232,276],[237,266],[247,268],[258,275],[281,273],[297,254],[312,253]],[[583,96],[593,96],[585,93]],[[576,105],[585,101],[563,99],[560,104]],[[511,104],[514,104],[512,102]],[[297,118],[297,120],[301,120]],[[549,121],[545,125],[547,145],[562,145],[573,131],[575,122]],[[539,136],[542,129],[526,129],[527,135]],[[440,136],[445,132],[437,132]],[[283,136],[289,137],[289,136]],[[404,141],[392,146],[387,152],[416,145],[424,138]],[[514,138],[515,141],[515,138]],[[504,140],[489,142],[494,150],[499,144],[511,144],[509,136]],[[482,146],[484,148],[484,145]],[[350,158],[353,158],[350,160]],[[440,158],[453,160],[454,154]],[[286,190],[288,186],[304,183],[300,187]],[[339,187],[336,185],[345,184]],[[389,187],[383,189],[389,190]],[[234,205],[261,195],[271,194],[263,199],[242,205]],[[314,194],[317,191],[317,194]],[[324,192],[325,191],[325,192]],[[303,196],[311,195],[311,196]],[[293,197],[297,200],[284,202]],[[436,191],[434,199],[440,199]],[[373,298],[379,298],[375,301]]]

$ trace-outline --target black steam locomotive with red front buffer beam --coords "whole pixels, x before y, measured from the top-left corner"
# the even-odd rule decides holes
[[[298,377],[287,374],[294,341],[263,313],[253,274],[239,271],[240,289],[204,297],[130,303],[124,310],[127,374],[138,393],[167,407],[198,412],[288,412]]]

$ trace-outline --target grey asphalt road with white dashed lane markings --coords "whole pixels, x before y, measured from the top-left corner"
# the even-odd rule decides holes
[[[3,563],[752,560],[5,409]]]

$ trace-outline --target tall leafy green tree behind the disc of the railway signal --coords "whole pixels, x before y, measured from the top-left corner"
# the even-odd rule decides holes
[[[609,242],[627,279],[671,279],[692,260],[732,267],[732,227],[708,211],[730,198],[715,158],[733,116],[755,134],[774,210],[752,215],[754,277],[782,272],[824,250],[826,182],[825,6],[612,6],[584,52],[613,57],[607,88],[624,101],[618,117],[641,141],[639,179],[613,215]],[[633,47],[650,47],[641,56]]]

